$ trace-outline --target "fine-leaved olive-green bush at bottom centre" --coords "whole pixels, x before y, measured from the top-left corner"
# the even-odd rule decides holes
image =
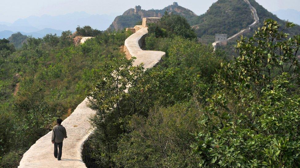
[[[113,156],[117,167],[196,167],[189,144],[197,130],[199,113],[188,103],[168,108],[155,107],[148,118],[132,117],[130,134],[118,143]]]

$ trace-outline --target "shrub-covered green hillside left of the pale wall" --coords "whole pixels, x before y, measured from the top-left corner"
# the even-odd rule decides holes
[[[86,28],[77,29],[79,35],[87,33]],[[0,41],[0,167],[18,166],[55,118],[71,114],[88,94],[93,69],[122,56],[120,46],[128,35],[98,32],[74,46],[66,31],[60,37],[28,38],[19,50],[9,40]]]

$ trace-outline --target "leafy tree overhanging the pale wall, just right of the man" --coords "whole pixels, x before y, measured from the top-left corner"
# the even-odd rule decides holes
[[[120,104],[127,96],[127,90],[134,86],[137,78],[143,73],[142,64],[132,66],[133,59],[120,60],[113,59],[110,63],[105,63],[101,69],[95,70],[93,85],[89,98],[89,107],[96,111],[93,118],[93,125],[97,127],[92,141],[96,162],[102,166],[113,166],[111,160],[112,153],[116,151],[118,136],[126,133],[126,118],[131,111],[122,110]]]

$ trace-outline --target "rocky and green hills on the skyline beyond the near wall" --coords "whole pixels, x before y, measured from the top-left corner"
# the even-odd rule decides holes
[[[269,18],[278,21],[282,25],[285,24],[284,20],[281,20],[273,13],[270,13],[255,0],[249,0],[249,2],[256,9],[260,20],[256,27],[262,26],[263,21]],[[200,16],[174,2],[164,9],[141,9],[136,13],[133,8],[128,9],[122,15],[115,18],[109,29],[121,30],[127,27],[133,27],[137,22],[140,22],[143,17],[161,17],[164,15],[165,11],[185,17],[190,25],[195,28],[197,36],[207,42],[214,42],[215,34],[227,34],[229,37],[240,30],[247,28],[248,25],[254,22],[254,17],[249,4],[243,0],[218,0],[211,5],[206,13]],[[294,14],[295,17],[289,16],[289,13],[293,13],[292,10],[285,12],[285,17],[280,18],[285,20],[289,19],[290,21],[295,20],[294,22],[296,22],[296,19],[300,19],[297,14]],[[246,35],[253,35],[255,29],[256,28]],[[296,26],[287,31],[287,33],[290,33],[291,35],[298,34],[300,33],[300,26]]]

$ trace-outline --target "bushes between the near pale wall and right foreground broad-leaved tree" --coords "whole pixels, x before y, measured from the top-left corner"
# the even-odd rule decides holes
[[[207,98],[212,75],[222,59],[211,47],[194,41],[180,37],[167,40],[171,40],[166,45],[168,54],[157,67],[128,73],[133,67],[119,61],[96,72],[96,89],[90,96],[91,107],[97,111],[93,119],[97,129],[84,152],[89,153],[85,160],[88,167],[198,164],[189,145],[194,140],[190,131],[197,130],[200,116],[186,102]],[[188,54],[186,58],[184,54]],[[179,64],[178,55],[182,56]],[[211,66],[211,71],[202,64]],[[120,67],[125,72],[119,71]],[[127,86],[131,87],[124,92]]]

